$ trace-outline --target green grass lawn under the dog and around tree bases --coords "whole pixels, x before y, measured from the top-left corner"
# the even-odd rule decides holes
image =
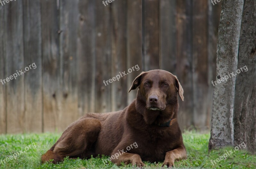
[[[91,169],[91,168],[133,168],[131,165],[122,165],[117,167],[112,163],[104,164],[101,158],[91,158],[88,160],[68,159],[57,165],[46,163],[40,164],[41,154],[45,153],[60,137],[60,134],[16,134],[0,135],[0,160],[10,157],[20,150],[25,151],[25,147],[35,143],[36,148],[30,146],[28,151],[6,162],[4,165],[0,161],[0,169]],[[187,149],[188,158],[186,160],[175,162],[174,168],[256,168],[256,156],[247,153],[244,150],[235,151],[233,154],[216,164],[211,160],[216,160],[226,153],[226,150],[234,150],[232,147],[225,149],[213,150],[208,154],[208,141],[210,134],[198,134],[195,132],[186,132],[183,134],[184,143]],[[34,146],[35,147],[35,146]],[[106,159],[107,157],[103,157]],[[145,168],[161,168],[162,162],[148,163],[145,162]]]

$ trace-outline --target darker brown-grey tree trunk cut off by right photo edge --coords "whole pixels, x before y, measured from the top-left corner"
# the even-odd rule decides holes
[[[256,150],[256,2],[246,0],[242,16],[234,104],[234,144]],[[246,71],[247,68],[247,71]]]

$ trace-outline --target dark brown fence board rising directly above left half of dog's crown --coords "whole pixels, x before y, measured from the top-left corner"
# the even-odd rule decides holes
[[[142,0],[143,71],[159,69],[160,2]]]

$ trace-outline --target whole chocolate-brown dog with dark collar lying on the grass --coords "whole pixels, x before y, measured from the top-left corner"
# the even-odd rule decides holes
[[[120,165],[139,167],[143,161],[164,161],[172,167],[186,158],[177,122],[177,93],[183,101],[183,89],[177,77],[164,70],[142,72],[129,90],[138,89],[137,98],[122,111],[86,114],[72,123],[60,139],[42,156],[42,163],[64,157],[111,156]]]

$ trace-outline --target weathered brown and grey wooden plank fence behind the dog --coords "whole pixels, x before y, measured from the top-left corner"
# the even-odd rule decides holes
[[[210,126],[220,4],[208,0],[18,0],[0,5],[0,133],[63,131],[88,112],[117,111],[141,72],[184,88],[182,129]],[[119,81],[103,80],[128,71]]]

